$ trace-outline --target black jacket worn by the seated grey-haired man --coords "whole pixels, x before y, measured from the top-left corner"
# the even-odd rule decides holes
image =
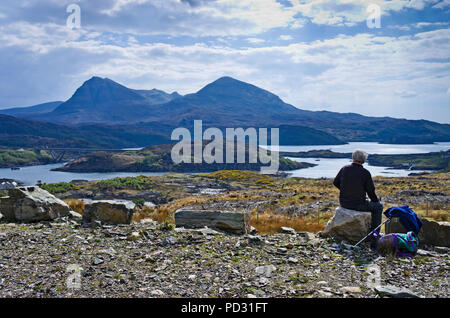
[[[342,207],[355,209],[366,202],[366,193],[372,202],[378,202],[372,175],[362,165],[352,163],[343,167],[333,184],[340,190],[339,202]]]

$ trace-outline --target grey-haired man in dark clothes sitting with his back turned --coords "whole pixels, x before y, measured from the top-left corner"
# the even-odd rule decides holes
[[[340,190],[339,202],[343,208],[361,212],[371,212],[370,231],[381,224],[383,205],[375,194],[370,172],[363,167],[368,154],[362,150],[353,153],[353,163],[343,167],[333,184]],[[370,201],[366,198],[366,193]],[[371,248],[375,249],[377,238],[372,235]]]

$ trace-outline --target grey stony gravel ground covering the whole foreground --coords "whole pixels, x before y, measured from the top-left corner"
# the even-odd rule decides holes
[[[449,297],[449,270],[448,248],[387,259],[307,232],[0,223],[0,297]]]

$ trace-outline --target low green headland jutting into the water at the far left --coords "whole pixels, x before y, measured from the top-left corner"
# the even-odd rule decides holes
[[[0,168],[49,164],[51,162],[52,157],[43,150],[0,149]]]

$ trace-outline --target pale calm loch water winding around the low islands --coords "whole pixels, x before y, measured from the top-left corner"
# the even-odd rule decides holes
[[[355,149],[363,149],[369,154],[410,154],[410,153],[427,153],[450,149],[450,142],[435,143],[429,145],[384,145],[370,142],[353,142],[347,145],[331,145],[331,146],[280,146],[280,151],[308,151],[314,149],[331,149],[335,152],[353,152]],[[339,169],[348,164],[348,159],[319,159],[316,158],[291,158],[295,161],[310,162],[318,164],[318,166],[308,169],[300,169],[289,171],[293,177],[305,178],[333,178]],[[52,164],[44,166],[23,167],[20,170],[0,169],[0,178],[15,179],[26,185],[34,185],[38,180],[43,183],[54,182],[70,182],[75,179],[83,180],[104,180],[115,177],[126,176],[161,176],[164,173],[153,172],[111,172],[111,173],[72,173],[50,171],[62,164]],[[407,176],[411,171],[408,170],[391,170],[386,167],[372,167],[364,165],[373,176]],[[419,172],[419,171],[413,171]]]

